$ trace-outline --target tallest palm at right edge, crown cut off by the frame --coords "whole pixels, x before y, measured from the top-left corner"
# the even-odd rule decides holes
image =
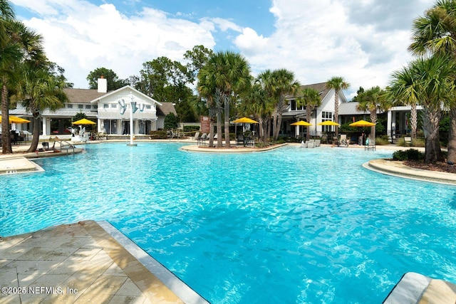
[[[456,58],[456,1],[437,0],[425,16],[413,22],[409,50],[416,55],[447,54]],[[456,93],[443,100],[450,112],[447,162],[456,163]]]

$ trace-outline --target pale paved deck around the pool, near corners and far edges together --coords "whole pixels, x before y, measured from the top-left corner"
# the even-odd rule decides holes
[[[182,147],[188,152],[251,153],[276,148],[228,150],[198,147],[192,140],[175,142],[189,142]],[[407,148],[388,145],[378,146],[378,149]],[[68,155],[47,151],[26,153],[26,150],[27,145],[19,145],[13,147],[14,154],[0,154],[0,174],[42,171],[29,159]],[[75,150],[76,153],[83,151]],[[371,160],[363,167],[397,177],[456,184],[456,174],[410,168],[402,162],[386,159]],[[2,289],[1,303],[208,303],[104,221],[81,221],[0,238],[0,283],[0,287],[9,288],[6,293]],[[454,304],[456,285],[418,273],[405,273],[384,303]]]

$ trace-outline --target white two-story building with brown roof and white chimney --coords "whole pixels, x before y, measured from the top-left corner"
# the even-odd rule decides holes
[[[98,79],[98,89],[64,89],[68,103],[56,111],[41,113],[41,134],[58,135],[71,132],[72,119],[82,112],[88,120],[96,122],[94,132],[108,135],[130,134],[130,115],[133,117],[133,134],[147,135],[151,130],[164,126],[165,116],[170,112],[177,115],[172,103],[159,103],[130,85],[108,92],[107,80]],[[131,105],[138,110],[130,113]],[[133,106],[135,108],[135,106]],[[31,118],[30,113],[20,105],[10,110],[11,115]],[[32,130],[33,120],[26,125],[18,125],[19,130]]]

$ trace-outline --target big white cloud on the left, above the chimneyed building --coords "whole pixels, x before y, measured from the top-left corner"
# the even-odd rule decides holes
[[[183,61],[183,54],[193,46],[215,45],[212,28],[204,22],[173,19],[155,9],[127,17],[113,4],[83,4],[67,14],[53,14],[49,7],[59,11],[61,5],[48,2],[46,17],[24,21],[43,35],[46,55],[65,68],[76,88],[88,87],[86,77],[95,68],[110,68],[120,78],[128,78],[139,75],[146,61],[160,56]]]

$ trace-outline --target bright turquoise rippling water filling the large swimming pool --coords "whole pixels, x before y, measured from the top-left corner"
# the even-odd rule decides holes
[[[407,271],[456,282],[456,187],[361,167],[389,151],[179,147],[87,145],[0,177],[0,235],[108,220],[212,303],[380,303]]]

